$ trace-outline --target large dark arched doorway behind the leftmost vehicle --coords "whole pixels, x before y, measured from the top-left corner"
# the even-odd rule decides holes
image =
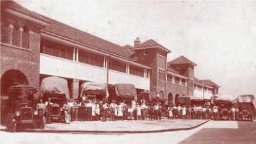
[[[19,70],[7,70],[1,76],[1,123],[5,123],[5,118],[9,111],[9,87],[18,84],[29,84],[25,74]]]

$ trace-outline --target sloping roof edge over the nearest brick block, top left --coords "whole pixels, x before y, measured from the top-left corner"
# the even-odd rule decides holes
[[[1,1],[1,5],[4,5],[4,7],[7,7],[9,9],[14,10],[14,11],[18,11],[18,12],[23,13],[25,15],[29,15],[30,17],[34,17],[36,19],[40,19],[42,21],[49,22],[47,19],[45,19],[44,16],[39,15],[38,13],[35,13],[34,11],[29,11],[28,9],[26,9],[25,7],[22,7],[18,3],[15,3],[14,1],[11,1],[11,0]]]

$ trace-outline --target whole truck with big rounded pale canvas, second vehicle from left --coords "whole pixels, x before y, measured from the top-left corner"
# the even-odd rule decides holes
[[[62,107],[64,101],[70,98],[68,81],[57,76],[50,76],[42,80],[40,90],[44,100],[47,100],[48,97],[51,98],[51,102],[53,103],[51,107],[52,119],[57,121],[64,120]]]

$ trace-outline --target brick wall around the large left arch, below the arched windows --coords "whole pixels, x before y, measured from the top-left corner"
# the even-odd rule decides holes
[[[7,70],[19,70],[29,84],[39,90],[40,34],[29,35],[29,50],[1,44],[1,76]],[[38,96],[36,93],[36,96]]]

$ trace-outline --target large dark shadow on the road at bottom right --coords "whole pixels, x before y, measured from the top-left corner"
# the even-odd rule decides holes
[[[237,122],[238,129],[204,128],[194,133],[180,144],[255,144],[256,122]]]

